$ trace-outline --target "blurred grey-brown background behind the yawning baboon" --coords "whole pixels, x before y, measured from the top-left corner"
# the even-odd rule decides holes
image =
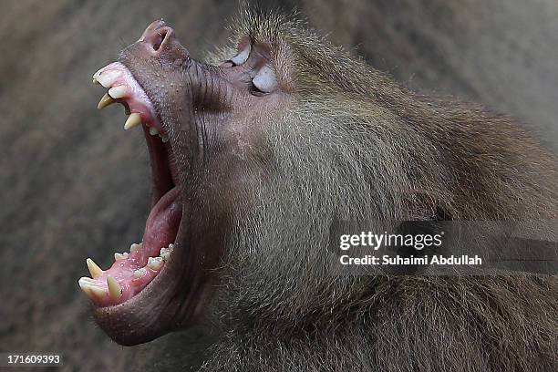
[[[506,112],[558,150],[555,0],[275,4],[401,84]],[[122,129],[119,105],[98,112],[104,90],[91,76],[157,18],[200,57],[236,10],[217,0],[2,3],[0,351],[62,352],[68,371],[199,367],[207,330],[118,346],[79,291],[86,257],[107,267],[140,241],[150,203],[143,135]]]

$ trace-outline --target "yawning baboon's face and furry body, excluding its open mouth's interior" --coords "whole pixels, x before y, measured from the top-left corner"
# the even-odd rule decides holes
[[[511,120],[417,97],[300,22],[245,11],[232,24],[211,63],[160,21],[120,54],[169,136],[181,219],[160,274],[96,306],[109,336],[137,344],[209,314],[227,332],[215,370],[556,367],[553,277],[338,277],[326,260],[335,220],[555,219],[553,156]]]

